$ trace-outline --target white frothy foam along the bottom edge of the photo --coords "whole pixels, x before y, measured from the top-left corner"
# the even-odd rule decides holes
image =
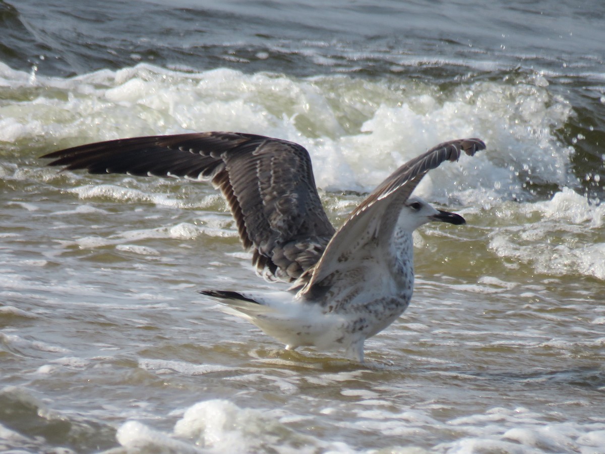
[[[355,393],[353,393],[355,394]],[[388,403],[387,403],[388,404]],[[388,407],[388,405],[387,405]],[[495,407],[485,413],[440,421],[423,410],[393,413],[380,409],[357,410],[354,419],[341,420],[339,410],[326,408],[330,424],[347,430],[375,430],[396,438],[430,437],[438,432],[454,435],[455,441],[434,447],[437,452],[466,453],[502,450],[511,453],[592,452],[605,446],[605,424],[558,423],[551,416],[523,407]],[[301,421],[287,411],[240,408],[227,400],[201,401],[184,411],[172,433],[128,421],[117,432],[117,440],[127,449],[154,449],[168,452],[356,452],[342,442],[322,442],[290,429]],[[450,435],[451,436],[451,435]],[[416,452],[409,442],[391,446],[397,452]],[[597,451],[598,452],[598,451]]]

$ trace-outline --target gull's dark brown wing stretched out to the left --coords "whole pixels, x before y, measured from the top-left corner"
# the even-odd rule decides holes
[[[255,134],[133,137],[45,154],[48,165],[89,173],[212,180],[221,189],[252,263],[291,281],[319,260],[334,234],[315,187],[307,150]]]

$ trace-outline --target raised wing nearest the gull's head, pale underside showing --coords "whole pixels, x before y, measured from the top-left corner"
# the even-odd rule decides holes
[[[354,258],[362,246],[376,239],[390,239],[402,206],[430,169],[446,160],[458,160],[462,151],[473,156],[483,149],[485,143],[479,139],[451,140],[399,167],[353,210],[330,240],[317,265],[302,275],[294,286],[306,283],[302,293],[311,294],[316,287],[325,285],[324,280],[338,271],[340,263]]]

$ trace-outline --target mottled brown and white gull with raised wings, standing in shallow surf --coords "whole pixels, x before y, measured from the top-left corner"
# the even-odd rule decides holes
[[[407,309],[414,287],[412,232],[462,216],[411,196],[422,177],[480,139],[439,143],[397,168],[335,229],[325,214],[311,159],[298,143],[209,132],[133,137],[42,156],[62,170],[211,180],[227,200],[257,274],[282,291],[203,290],[286,345],[345,350],[364,361],[364,342]]]

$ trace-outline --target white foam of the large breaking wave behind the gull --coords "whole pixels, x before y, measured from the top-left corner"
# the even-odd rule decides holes
[[[15,89],[28,85],[27,74],[5,66],[0,77]],[[517,84],[476,82],[443,94],[421,84],[396,89],[384,81],[359,84],[345,76],[295,79],[226,69],[196,74],[140,64],[73,79],[37,77],[28,88],[53,90],[41,91],[18,108],[11,105],[10,111],[0,107],[0,140],[79,137],[75,144],[145,134],[246,131],[306,146],[322,188],[368,191],[420,151],[443,140],[477,136],[486,140],[486,153],[442,166],[419,192],[490,205],[522,192],[524,178],[558,185],[575,180],[569,172],[572,150],[554,134],[571,107],[531,78]],[[54,96],[57,91],[68,93],[67,98]],[[335,93],[339,104],[330,101]],[[93,197],[116,194],[117,188],[74,190]],[[162,203],[161,194],[121,191],[125,200]]]

